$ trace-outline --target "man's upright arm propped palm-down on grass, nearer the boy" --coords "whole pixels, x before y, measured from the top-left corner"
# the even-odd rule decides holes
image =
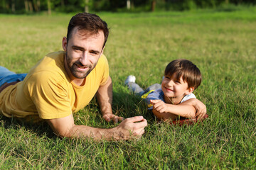
[[[104,118],[107,122],[113,120],[114,123],[118,123],[118,121],[122,121],[124,118],[112,113],[112,94],[112,79],[108,77],[106,84],[100,86],[97,91],[97,101],[100,104],[102,118]]]

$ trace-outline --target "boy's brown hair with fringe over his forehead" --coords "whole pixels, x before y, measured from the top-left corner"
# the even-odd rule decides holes
[[[194,87],[195,89],[200,86],[202,81],[202,75],[198,67],[189,60],[177,59],[170,62],[164,71],[165,76],[173,77],[179,80],[183,79],[188,84],[189,87]]]

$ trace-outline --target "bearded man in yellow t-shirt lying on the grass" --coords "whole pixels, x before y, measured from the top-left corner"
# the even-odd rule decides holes
[[[0,111],[9,118],[38,123],[46,120],[61,137],[92,137],[95,140],[128,140],[141,137],[147,123],[142,116],[127,118],[112,113],[112,80],[103,55],[109,30],[99,16],[78,13],[71,18],[63,50],[52,52],[28,74],[0,67]],[[97,96],[102,118],[111,129],[75,125],[73,113]]]

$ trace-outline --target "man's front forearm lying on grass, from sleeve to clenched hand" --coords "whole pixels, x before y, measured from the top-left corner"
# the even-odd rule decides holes
[[[61,137],[92,137],[93,140],[129,140],[141,137],[146,127],[146,119],[142,116],[127,118],[117,127],[111,129],[92,128],[85,125],[75,125],[73,114],[65,118],[46,120],[56,135]]]

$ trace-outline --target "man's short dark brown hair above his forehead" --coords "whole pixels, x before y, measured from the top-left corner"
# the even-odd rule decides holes
[[[70,19],[68,24],[67,42],[72,36],[72,31],[75,27],[78,27],[82,34],[97,34],[99,30],[102,30],[105,36],[105,42],[103,47],[107,42],[107,37],[109,35],[109,28],[107,28],[107,23],[102,21],[102,19],[92,13],[78,13]]]

